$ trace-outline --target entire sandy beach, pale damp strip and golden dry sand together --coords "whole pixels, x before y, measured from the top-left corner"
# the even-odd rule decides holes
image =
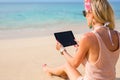
[[[84,32],[89,31],[86,27],[80,27],[80,25],[70,26],[68,24],[69,28],[57,28],[56,30],[49,30],[49,32],[39,29],[1,30],[0,80],[64,80],[56,76],[46,75],[42,65],[48,64],[50,67],[57,67],[65,63],[64,57],[55,49],[56,40],[53,33],[69,29],[79,40]],[[119,25],[119,21],[117,21],[116,29],[118,31],[120,31]],[[71,55],[75,53],[73,46],[68,47],[67,50]],[[83,66],[80,66],[78,70],[84,75]],[[120,59],[116,66],[116,77],[116,80],[120,80]]]

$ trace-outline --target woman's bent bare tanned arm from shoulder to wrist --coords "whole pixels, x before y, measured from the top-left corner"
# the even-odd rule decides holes
[[[85,59],[88,51],[89,51],[89,34],[85,34],[82,36],[82,38],[79,41],[79,47],[77,52],[75,53],[74,56],[71,56],[66,50],[62,52],[64,55],[65,59],[71,66],[73,67],[78,67],[80,63]],[[59,50],[59,49],[58,49]]]

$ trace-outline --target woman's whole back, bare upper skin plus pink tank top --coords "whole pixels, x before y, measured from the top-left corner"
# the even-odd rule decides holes
[[[115,80],[115,65],[120,51],[120,35],[111,30],[114,46],[111,44],[106,28],[94,30],[93,35],[96,39],[94,39],[93,50],[90,51],[85,65],[85,80]]]

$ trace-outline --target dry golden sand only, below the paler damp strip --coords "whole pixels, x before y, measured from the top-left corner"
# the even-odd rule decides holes
[[[75,34],[79,39],[81,34]],[[50,77],[42,69],[46,63],[57,67],[65,63],[64,57],[55,49],[54,36],[16,38],[0,40],[0,80],[64,80]],[[74,47],[67,48],[75,53]],[[84,74],[84,68],[78,68]],[[120,59],[116,67],[120,80]]]

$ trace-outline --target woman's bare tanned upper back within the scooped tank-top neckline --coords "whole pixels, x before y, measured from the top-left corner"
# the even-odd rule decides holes
[[[117,31],[110,30],[110,34],[111,34],[114,46],[112,45],[112,43],[110,41],[110,36],[109,36],[106,28],[103,28],[103,30],[101,29],[101,31],[98,31],[97,33],[100,35],[101,39],[103,40],[103,42],[106,45],[106,47],[108,48],[108,50],[114,52],[118,49],[118,47],[119,47],[119,35],[118,35]]]

